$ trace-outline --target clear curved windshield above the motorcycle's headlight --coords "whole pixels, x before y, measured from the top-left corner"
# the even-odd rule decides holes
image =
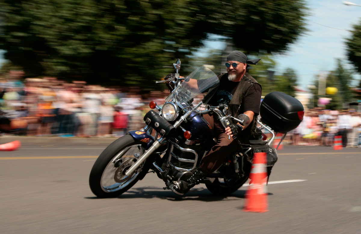
[[[188,79],[196,80],[195,82],[187,82]],[[173,92],[166,98],[166,102],[178,101],[190,105],[194,99],[202,101],[206,104],[216,92],[219,85],[219,79],[212,70],[206,67],[195,69],[181,85],[177,86]],[[198,97],[197,97],[198,96]]]

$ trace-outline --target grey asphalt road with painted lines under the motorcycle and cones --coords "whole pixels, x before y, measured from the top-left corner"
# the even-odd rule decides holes
[[[88,175],[114,139],[19,139],[0,152],[0,233],[361,233],[361,149],[284,146],[270,176],[268,209],[244,212],[241,187],[228,197],[208,190],[164,191],[149,173],[119,198],[97,199]],[[201,187],[199,185],[196,187]]]

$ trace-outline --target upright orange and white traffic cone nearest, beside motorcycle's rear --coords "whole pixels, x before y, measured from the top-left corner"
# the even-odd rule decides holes
[[[249,174],[249,179],[252,180],[252,183],[249,184],[249,189],[246,192],[246,201],[243,211],[259,213],[268,211],[266,166],[267,153],[255,153],[255,156],[253,156],[251,173]]]

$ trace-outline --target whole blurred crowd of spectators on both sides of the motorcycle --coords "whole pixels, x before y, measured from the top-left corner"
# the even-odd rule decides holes
[[[11,71],[6,79],[0,77],[1,133],[119,137],[144,127],[149,101],[162,105],[169,94],[154,91],[142,96],[136,89],[68,83],[53,77],[23,80],[22,76],[22,71]],[[359,112],[308,110],[285,142],[331,146],[340,135],[343,146],[356,146],[361,143],[360,127]]]

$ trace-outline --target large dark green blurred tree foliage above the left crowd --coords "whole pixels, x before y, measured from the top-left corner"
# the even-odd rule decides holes
[[[287,50],[306,10],[303,0],[3,0],[0,49],[28,77],[150,88],[209,34],[246,53]]]

